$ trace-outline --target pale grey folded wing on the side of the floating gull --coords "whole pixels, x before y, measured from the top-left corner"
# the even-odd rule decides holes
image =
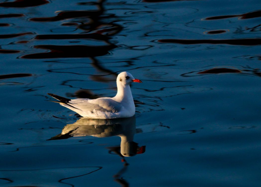
[[[116,113],[122,108],[122,105],[119,102],[116,102],[109,97],[98,99],[72,99],[68,104],[82,111],[99,110],[102,112]]]

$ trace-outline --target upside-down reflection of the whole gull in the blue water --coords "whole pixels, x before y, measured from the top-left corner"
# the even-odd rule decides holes
[[[120,136],[120,153],[125,157],[131,157],[145,152],[145,146],[139,147],[133,141],[136,132],[135,123],[135,116],[109,120],[81,118],[73,124],[67,124],[61,134],[49,140],[67,139],[72,136],[95,136],[98,138]]]

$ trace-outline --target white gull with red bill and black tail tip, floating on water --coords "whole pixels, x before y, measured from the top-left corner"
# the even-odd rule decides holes
[[[101,97],[97,99],[68,99],[55,94],[48,94],[59,101],[60,105],[69,108],[89,119],[114,119],[132,117],[135,114],[135,105],[131,93],[132,82],[142,83],[135,79],[131,73],[118,74],[117,94],[115,97]]]

